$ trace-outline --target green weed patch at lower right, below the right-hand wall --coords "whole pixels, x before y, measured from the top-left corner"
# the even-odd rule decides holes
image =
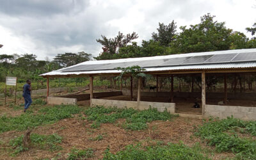
[[[256,122],[246,122],[231,117],[223,120],[210,120],[199,127],[195,134],[206,140],[209,145],[214,145],[218,152],[232,151],[241,159],[255,159],[256,141],[239,138],[236,133],[256,136],[255,131]]]

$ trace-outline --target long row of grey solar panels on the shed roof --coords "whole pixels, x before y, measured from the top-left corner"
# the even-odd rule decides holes
[[[230,54],[212,54],[205,56],[189,56],[180,58],[166,58],[159,60],[142,60],[129,61],[93,65],[77,65],[70,68],[64,68],[61,72],[76,72],[76,71],[90,71],[90,70],[114,70],[117,67],[132,67],[138,65],[143,68],[150,67],[168,67],[177,65],[198,65],[211,63],[232,63],[241,61],[256,61],[256,52],[246,53],[230,53]]]

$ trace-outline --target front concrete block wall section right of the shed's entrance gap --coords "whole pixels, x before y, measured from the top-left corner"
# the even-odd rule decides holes
[[[241,120],[256,120],[256,108],[243,106],[218,106],[205,105],[205,116],[214,116],[227,118],[227,116],[234,116]]]

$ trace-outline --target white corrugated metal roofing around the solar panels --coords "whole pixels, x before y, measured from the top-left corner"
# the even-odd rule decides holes
[[[154,57],[144,57],[144,58],[125,58],[125,59],[118,59],[118,60],[100,60],[100,61],[85,61],[83,63],[79,63],[77,65],[73,65],[66,68],[61,68],[60,70],[54,70],[52,72],[48,72],[45,74],[42,74],[40,76],[72,76],[72,75],[79,75],[79,74],[115,74],[119,73],[120,70],[86,70],[84,68],[83,71],[74,71],[74,72],[67,72],[65,70],[68,70],[68,68],[83,68],[82,65],[88,66],[97,66],[97,65],[103,65],[103,64],[117,64],[117,63],[131,63],[134,61],[150,61],[150,60],[166,60],[170,58],[182,58],[182,57],[193,57],[193,56],[208,56],[208,55],[215,55],[215,54],[239,54],[239,53],[247,53],[253,56],[256,56],[256,49],[237,49],[237,50],[228,50],[228,51],[214,51],[214,52],[196,52],[196,53],[188,53],[188,54],[172,54],[168,56],[154,56]],[[244,55],[247,55],[244,54]],[[212,56],[208,56],[212,57]],[[236,57],[236,56],[235,56]],[[132,63],[131,63],[132,64]],[[140,63],[139,63],[140,64]],[[209,63],[209,64],[192,64],[192,65],[175,65],[175,66],[166,66],[166,67],[145,67],[145,70],[147,72],[156,72],[156,71],[164,71],[164,70],[170,70],[170,71],[177,71],[177,70],[209,70],[209,69],[232,69],[232,68],[255,68],[256,67],[256,60],[250,60],[250,61],[239,61],[239,62],[233,62],[227,61],[225,63]],[[102,67],[101,67],[102,68]],[[104,67],[103,67],[104,68]]]

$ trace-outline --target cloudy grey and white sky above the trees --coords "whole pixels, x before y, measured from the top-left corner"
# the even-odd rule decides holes
[[[85,51],[97,56],[100,35],[136,31],[148,40],[158,22],[189,26],[206,13],[246,33],[256,22],[255,0],[0,0],[0,54],[33,53],[50,59]],[[246,34],[250,36],[250,34]]]

